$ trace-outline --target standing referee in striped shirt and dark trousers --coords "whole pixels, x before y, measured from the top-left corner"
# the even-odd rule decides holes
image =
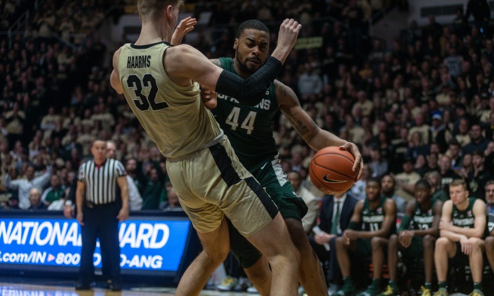
[[[106,142],[95,140],[93,159],[79,168],[76,189],[77,221],[81,224],[81,267],[76,290],[90,289],[93,280],[93,255],[99,238],[102,258],[108,264],[112,291],[122,290],[120,279],[119,221],[128,218],[128,190],[122,163],[106,158]],[[117,184],[121,189],[122,208],[115,202]],[[108,257],[108,258],[105,258]],[[106,265],[105,264],[105,265]]]

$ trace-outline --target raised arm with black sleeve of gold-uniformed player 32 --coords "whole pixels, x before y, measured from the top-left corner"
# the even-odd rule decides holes
[[[197,81],[208,89],[232,96],[242,104],[254,106],[274,80],[295,44],[301,25],[286,19],[280,27],[278,45],[266,64],[247,79],[224,71],[211,63],[200,51],[178,45],[164,55],[164,66],[170,78],[179,85]]]

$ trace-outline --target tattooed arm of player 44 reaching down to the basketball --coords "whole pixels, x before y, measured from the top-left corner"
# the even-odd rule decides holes
[[[291,88],[278,80],[275,80],[274,84],[280,110],[287,116],[291,126],[300,134],[305,143],[316,151],[328,146],[339,146],[340,149],[348,150],[355,157],[352,170],[357,172],[357,180],[360,180],[364,172],[364,161],[357,145],[320,128],[302,109],[297,95]]]

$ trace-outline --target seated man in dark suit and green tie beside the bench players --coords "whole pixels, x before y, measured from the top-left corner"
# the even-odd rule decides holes
[[[321,213],[319,215],[319,228],[323,232],[314,237],[309,237],[309,242],[321,262],[324,263],[329,260],[328,286],[329,283],[341,282],[341,272],[336,259],[335,241],[336,237],[341,236],[343,230],[348,227],[357,201],[355,197],[347,192],[334,196],[326,195],[323,198]],[[326,243],[329,244],[330,251],[324,248],[324,244]],[[332,284],[329,290],[335,288],[335,285]]]

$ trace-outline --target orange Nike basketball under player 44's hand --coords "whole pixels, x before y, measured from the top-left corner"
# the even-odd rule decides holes
[[[338,147],[319,150],[309,165],[312,183],[326,194],[345,192],[355,183],[357,174],[352,172],[355,157]]]

